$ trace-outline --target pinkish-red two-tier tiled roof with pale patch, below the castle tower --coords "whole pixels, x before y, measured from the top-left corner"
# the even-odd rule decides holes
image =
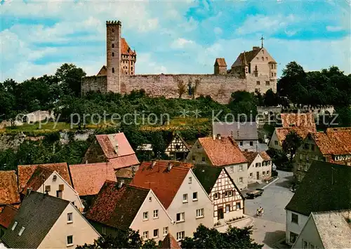
[[[114,169],[133,166],[140,163],[124,133],[96,135],[95,137],[105,156],[112,163]]]

